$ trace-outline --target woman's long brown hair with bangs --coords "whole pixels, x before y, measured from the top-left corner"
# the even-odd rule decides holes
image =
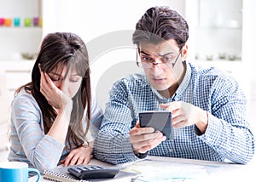
[[[67,132],[69,147],[72,143],[76,146],[82,145],[86,141],[85,136],[89,130],[91,100],[89,58],[83,40],[76,34],[66,32],[50,33],[44,37],[38,58],[32,69],[32,82],[28,82],[16,91],[18,94],[22,88],[25,88],[26,92],[31,93],[37,100],[43,115],[44,133],[47,134],[57,113],[40,92],[39,64],[42,71],[46,73],[53,71],[56,67],[63,69],[64,66],[67,66],[67,72],[75,69],[82,77],[79,91],[73,97],[73,111]],[[87,123],[84,129],[82,118],[85,109]]]

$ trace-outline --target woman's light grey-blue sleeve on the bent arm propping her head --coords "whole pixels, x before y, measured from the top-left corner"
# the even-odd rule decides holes
[[[61,158],[64,145],[44,134],[41,111],[31,95],[22,94],[12,105],[12,150],[17,156],[26,155],[27,160],[40,172],[55,168]],[[17,139],[15,140],[15,136]],[[21,146],[21,149],[20,149]]]

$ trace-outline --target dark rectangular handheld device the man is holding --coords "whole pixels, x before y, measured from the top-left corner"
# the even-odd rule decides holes
[[[172,112],[143,111],[139,112],[140,127],[152,127],[166,135],[166,139],[173,139]]]

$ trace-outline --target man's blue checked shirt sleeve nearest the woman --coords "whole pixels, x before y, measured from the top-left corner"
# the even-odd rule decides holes
[[[99,160],[118,164],[137,159],[129,140],[132,117],[128,90],[124,82],[117,82],[109,93],[110,101],[94,144],[94,154]]]

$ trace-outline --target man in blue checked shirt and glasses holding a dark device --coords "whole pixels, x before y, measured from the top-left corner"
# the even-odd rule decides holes
[[[144,74],[113,85],[96,158],[114,164],[148,155],[242,164],[252,159],[254,137],[241,88],[224,72],[187,62],[188,37],[189,26],[176,11],[154,7],[143,14],[133,43]],[[172,111],[173,139],[140,128],[139,111]]]

